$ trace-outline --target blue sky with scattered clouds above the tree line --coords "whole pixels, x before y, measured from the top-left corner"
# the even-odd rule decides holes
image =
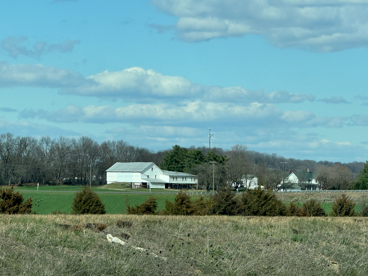
[[[0,133],[368,159],[368,0],[2,0]]]

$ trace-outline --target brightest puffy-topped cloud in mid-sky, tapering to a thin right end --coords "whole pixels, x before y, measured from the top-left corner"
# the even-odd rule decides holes
[[[150,101],[152,98],[194,98],[202,101],[210,99],[212,102],[300,103],[315,99],[311,94],[293,94],[287,91],[265,93],[263,90],[250,91],[240,86],[204,86],[183,77],[162,75],[141,67],[117,72],[106,70],[87,79],[92,82],[77,88],[63,89],[61,93],[139,101]]]

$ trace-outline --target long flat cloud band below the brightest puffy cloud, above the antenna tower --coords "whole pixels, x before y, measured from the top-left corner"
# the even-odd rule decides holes
[[[57,111],[25,109],[20,112],[23,118],[45,118],[55,122],[147,122],[153,125],[167,122],[176,124],[203,123],[217,121],[228,123],[234,121],[263,120],[274,121],[282,112],[275,106],[265,103],[251,103],[248,106],[230,103],[189,102],[183,106],[167,104],[133,104],[113,108],[112,106],[79,107],[69,105]]]

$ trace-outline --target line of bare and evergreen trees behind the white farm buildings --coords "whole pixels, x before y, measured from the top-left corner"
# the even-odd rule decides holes
[[[210,189],[213,182],[213,166],[209,162],[216,162],[216,188],[229,184],[242,188],[242,178],[248,175],[257,177],[260,185],[277,190],[289,170],[301,175],[307,168],[318,177],[323,189],[367,188],[365,180],[355,185],[355,180],[365,179],[359,176],[364,162],[287,159],[275,153],[250,151],[247,146],[238,144],[230,149],[175,145],[172,149],[152,151],[123,140],[98,143],[86,136],[37,139],[11,133],[0,135],[1,185],[34,182],[84,185],[90,181],[90,172],[92,185],[103,185],[106,169],[116,162],[153,162],[164,170],[192,173],[199,176],[199,187],[206,189]],[[287,163],[285,167],[282,162]]]

